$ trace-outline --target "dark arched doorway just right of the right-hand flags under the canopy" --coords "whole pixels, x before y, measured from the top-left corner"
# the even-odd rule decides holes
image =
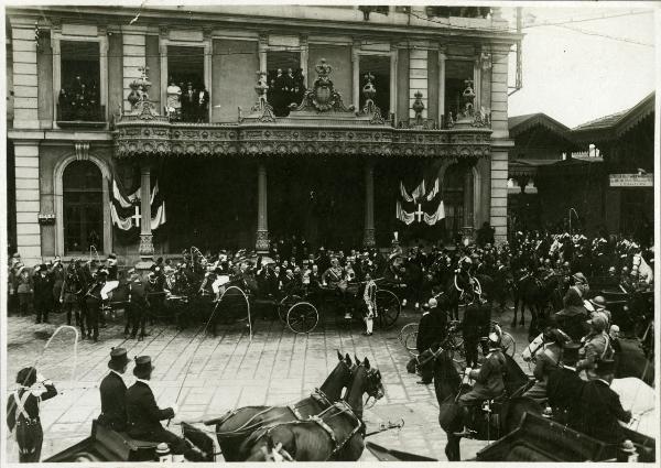
[[[474,173],[465,164],[449,165],[443,174],[443,204],[445,206],[445,241],[460,239],[462,229],[473,226]]]

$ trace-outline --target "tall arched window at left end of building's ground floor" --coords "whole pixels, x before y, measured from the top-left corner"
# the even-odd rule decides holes
[[[64,252],[104,251],[104,186],[91,161],[74,161],[63,175]]]

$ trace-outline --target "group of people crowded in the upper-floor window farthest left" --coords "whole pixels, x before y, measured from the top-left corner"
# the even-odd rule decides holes
[[[98,120],[100,115],[99,91],[96,80],[85,80],[79,75],[59,90],[57,97],[58,120]]]

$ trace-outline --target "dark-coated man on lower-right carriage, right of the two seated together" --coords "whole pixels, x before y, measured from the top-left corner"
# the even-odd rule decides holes
[[[621,444],[625,434],[618,421],[631,421],[631,412],[625,411],[619,395],[610,388],[615,378],[615,361],[600,360],[595,369],[596,379],[587,382],[581,398],[583,420],[581,431],[608,444]]]

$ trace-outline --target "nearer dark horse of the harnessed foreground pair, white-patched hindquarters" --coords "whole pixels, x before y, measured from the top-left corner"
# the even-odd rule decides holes
[[[246,461],[357,461],[365,449],[362,395],[383,396],[381,372],[366,358],[353,373],[344,401],[307,421],[275,424],[254,433]]]

